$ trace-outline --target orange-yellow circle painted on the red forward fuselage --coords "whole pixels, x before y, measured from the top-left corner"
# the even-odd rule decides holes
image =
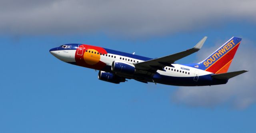
[[[100,53],[97,50],[89,49],[84,53],[84,61],[89,65],[94,65],[100,61]]]

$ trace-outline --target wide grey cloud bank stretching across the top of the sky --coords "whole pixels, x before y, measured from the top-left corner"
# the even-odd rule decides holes
[[[150,36],[256,20],[255,0],[2,0],[2,34]]]

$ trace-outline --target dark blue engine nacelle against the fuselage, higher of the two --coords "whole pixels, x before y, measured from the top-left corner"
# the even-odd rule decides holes
[[[128,74],[128,75],[132,75],[136,71],[135,66],[133,64],[127,64],[125,62],[120,62],[120,61],[114,61],[112,63],[111,70],[116,73]]]

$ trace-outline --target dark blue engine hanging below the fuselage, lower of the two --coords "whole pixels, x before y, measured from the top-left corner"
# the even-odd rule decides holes
[[[114,75],[113,73],[108,73],[105,71],[99,71],[98,79],[110,83],[120,83],[125,81],[124,77],[119,77],[118,75]]]

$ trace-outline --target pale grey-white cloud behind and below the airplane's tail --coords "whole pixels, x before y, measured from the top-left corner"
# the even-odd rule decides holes
[[[223,41],[225,42],[225,41]],[[256,103],[256,47],[253,42],[242,40],[238,51],[230,65],[229,71],[248,69],[249,71],[233,77],[225,85],[213,85],[204,87],[179,87],[172,94],[172,101],[178,104],[185,104],[192,107],[216,107],[219,105],[231,105],[238,109],[243,109]],[[216,50],[221,46],[216,44],[213,48],[205,51]],[[200,54],[201,53],[201,54]],[[198,58],[207,57],[210,53],[198,53]]]

